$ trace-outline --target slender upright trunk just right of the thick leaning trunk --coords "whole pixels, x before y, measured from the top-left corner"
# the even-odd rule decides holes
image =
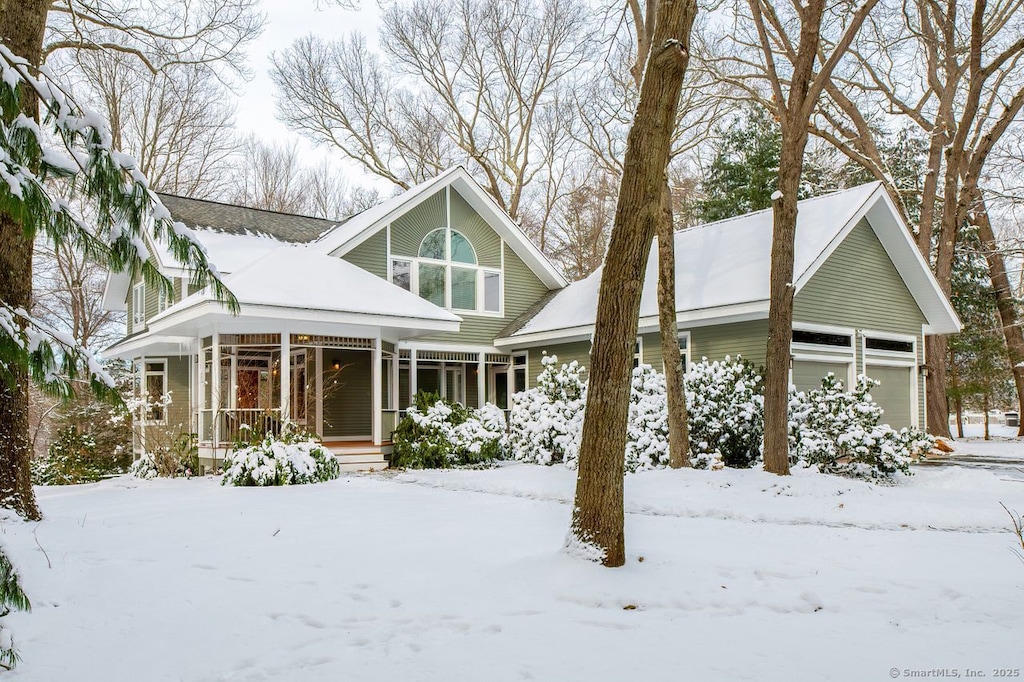
[[[689,415],[683,387],[683,356],[679,352],[676,324],[676,230],[672,219],[672,194],[665,184],[662,220],[657,225],[657,319],[662,330],[662,357],[669,397],[669,466],[690,466]]]

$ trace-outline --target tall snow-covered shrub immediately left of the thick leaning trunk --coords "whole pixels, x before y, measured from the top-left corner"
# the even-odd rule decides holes
[[[509,455],[523,462],[572,468],[580,455],[587,370],[572,360],[558,366],[557,355],[541,358],[544,369],[537,386],[512,396],[509,412]]]

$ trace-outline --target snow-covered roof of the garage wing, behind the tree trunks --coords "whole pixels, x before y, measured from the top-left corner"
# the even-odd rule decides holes
[[[928,321],[928,333],[959,331],[959,319],[879,182],[799,203],[794,280],[797,292],[866,218]],[[690,227],[675,236],[676,310],[682,323],[757,319],[768,313],[772,210]],[[569,340],[593,333],[602,268],[560,291],[528,321],[510,326],[499,345]],[[644,274],[640,327],[657,326],[657,250]],[[518,327],[515,331],[512,331]]]

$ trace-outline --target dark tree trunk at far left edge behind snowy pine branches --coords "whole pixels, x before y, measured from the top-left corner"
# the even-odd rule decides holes
[[[43,31],[48,0],[0,0],[0,42],[14,54],[38,66],[42,59]],[[35,91],[20,88],[22,112],[39,120]],[[7,121],[9,123],[9,121]],[[0,212],[0,300],[12,308],[32,307],[32,236],[13,216]],[[29,374],[11,367],[13,381],[0,382],[0,506],[28,519],[41,514],[32,489],[29,437]]]

